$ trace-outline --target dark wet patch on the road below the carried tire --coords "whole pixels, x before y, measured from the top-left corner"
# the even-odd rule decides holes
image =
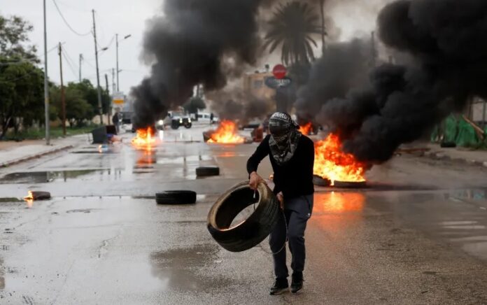
[[[176,248],[150,255],[152,274],[159,278],[167,290],[202,291],[231,285],[229,278],[213,278],[197,273],[218,258],[218,247],[199,245]]]

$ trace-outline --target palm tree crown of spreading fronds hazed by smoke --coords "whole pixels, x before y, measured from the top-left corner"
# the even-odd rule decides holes
[[[323,34],[319,17],[308,3],[292,1],[279,6],[269,21],[264,48],[274,52],[281,45],[281,60],[285,65],[307,64],[315,59],[313,36]]]

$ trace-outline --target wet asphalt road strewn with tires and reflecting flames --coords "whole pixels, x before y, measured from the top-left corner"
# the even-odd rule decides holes
[[[271,297],[269,246],[219,248],[206,231],[218,194],[246,179],[255,144],[209,146],[202,127],[0,169],[0,304],[487,304],[486,170],[408,155],[365,190],[316,188],[305,288]],[[221,176],[197,179],[199,165]],[[269,162],[260,170],[271,173]],[[195,190],[195,206],[155,192]]]

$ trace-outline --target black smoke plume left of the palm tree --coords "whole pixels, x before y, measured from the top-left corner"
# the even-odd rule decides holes
[[[134,127],[153,125],[182,105],[193,87],[206,92],[253,64],[260,45],[257,14],[271,0],[165,0],[162,17],[148,22],[143,58],[151,75],[132,88]]]

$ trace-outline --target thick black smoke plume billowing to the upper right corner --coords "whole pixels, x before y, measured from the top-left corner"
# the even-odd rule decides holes
[[[316,73],[314,91],[300,101],[318,101],[318,119],[341,134],[344,150],[369,163],[390,159],[470,97],[487,97],[487,1],[395,1],[381,10],[378,27],[381,41],[411,62],[383,64],[362,86],[333,97],[313,84],[335,71]]]

